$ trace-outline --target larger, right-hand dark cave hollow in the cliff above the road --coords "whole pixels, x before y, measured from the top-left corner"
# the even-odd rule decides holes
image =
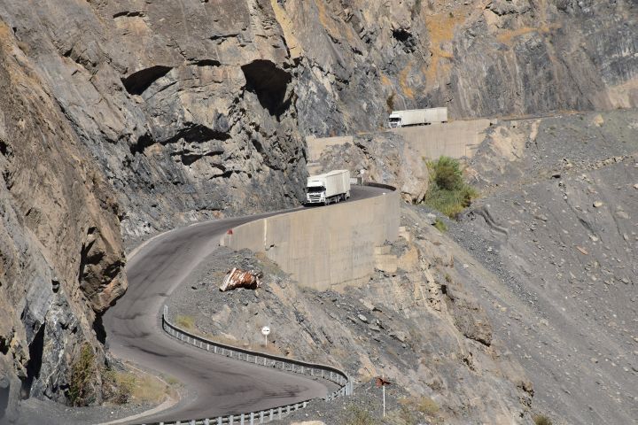
[[[265,59],[254,60],[241,68],[246,89],[257,95],[261,106],[271,115],[281,115],[290,103],[285,102],[285,95],[292,75]]]

